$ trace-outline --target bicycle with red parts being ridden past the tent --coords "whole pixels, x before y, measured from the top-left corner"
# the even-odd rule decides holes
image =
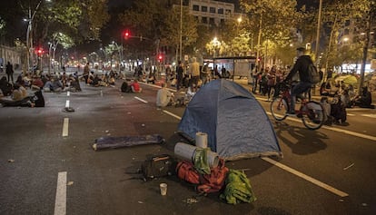
[[[287,111],[290,110],[292,100],[290,88],[288,83],[280,83],[280,96],[272,100],[272,117],[277,121],[282,121],[288,116]],[[295,113],[298,118],[302,118],[302,123],[307,129],[316,130],[322,127],[324,112],[320,103],[302,98],[301,107],[295,110]]]

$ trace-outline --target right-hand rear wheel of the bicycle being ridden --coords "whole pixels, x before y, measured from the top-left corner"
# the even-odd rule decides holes
[[[309,130],[316,130],[322,127],[324,112],[322,105],[316,102],[309,102],[303,108],[307,110],[302,114],[302,122]]]

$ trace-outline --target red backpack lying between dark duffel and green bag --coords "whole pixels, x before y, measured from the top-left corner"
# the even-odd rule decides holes
[[[220,159],[217,167],[211,169],[210,174],[200,174],[190,161],[180,161],[176,166],[179,179],[197,184],[197,191],[205,193],[221,191],[228,171],[223,159]]]

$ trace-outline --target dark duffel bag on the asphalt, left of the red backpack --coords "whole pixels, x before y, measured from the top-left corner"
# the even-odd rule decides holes
[[[151,180],[175,173],[176,161],[168,154],[156,155],[147,159],[141,166],[143,180]]]

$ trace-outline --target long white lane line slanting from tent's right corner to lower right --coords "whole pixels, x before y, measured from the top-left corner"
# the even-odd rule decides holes
[[[304,174],[304,173],[302,173],[300,171],[296,171],[296,170],[294,170],[294,169],[292,169],[292,168],[290,168],[290,167],[282,164],[281,162],[274,161],[274,160],[272,160],[270,158],[267,158],[267,157],[263,157],[262,160],[263,161],[267,161],[269,163],[272,163],[274,166],[277,166],[277,167],[281,168],[284,171],[289,171],[290,173],[292,173],[292,174],[294,174],[294,175],[296,175],[296,176],[298,176],[298,177],[300,177],[300,178],[302,178],[302,179],[304,179],[306,181],[310,181],[313,184],[315,184],[315,185],[317,185],[317,186],[319,186],[319,187],[321,187],[321,188],[323,188],[323,189],[325,189],[327,191],[331,191],[332,193],[334,193],[334,194],[336,194],[336,195],[338,195],[340,197],[349,196],[349,194],[347,194],[346,192],[337,190],[337,189],[331,187],[330,185],[328,185],[328,184],[326,184],[326,183],[324,183],[322,181],[315,180],[311,176],[308,176],[308,175],[306,175],[306,174]]]

